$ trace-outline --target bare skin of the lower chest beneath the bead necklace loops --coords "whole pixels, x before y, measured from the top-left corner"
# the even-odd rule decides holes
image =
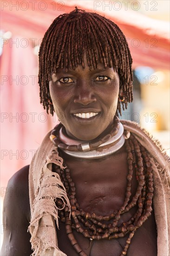
[[[124,238],[111,240],[93,240],[92,243],[88,238],[73,231],[79,246],[87,256],[120,256],[126,239]],[[74,250],[67,235],[65,234],[65,224],[59,222],[59,230],[57,229],[59,249],[67,256],[78,256]],[[131,240],[127,256],[157,256],[157,229],[154,214],[140,227]]]

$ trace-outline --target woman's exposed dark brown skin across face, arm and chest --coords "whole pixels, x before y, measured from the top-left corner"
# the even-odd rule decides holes
[[[108,133],[111,120],[108,118],[103,121],[103,117],[107,116],[108,113],[111,113],[112,116],[115,115],[115,106],[117,106],[118,94],[120,93],[119,80],[118,76],[111,76],[111,69],[105,70],[105,73],[97,71],[98,74],[89,71],[88,67],[85,70],[78,67],[77,71],[74,74],[71,71],[69,71],[70,73],[64,72],[64,75],[63,73],[58,74],[60,77],[57,77],[57,83],[56,81],[50,82],[50,93],[56,113],[59,111],[57,114],[61,112],[65,114],[61,122],[63,122],[67,134],[72,138],[75,138],[77,135],[76,138],[88,141],[100,137],[101,134]],[[70,82],[71,80],[62,79],[63,77],[70,79],[70,76],[72,81],[74,81],[71,84],[68,84],[68,81]],[[101,83],[98,81],[98,77],[101,77]],[[109,80],[105,77],[109,77]],[[97,81],[94,82],[96,79]],[[61,81],[66,81],[66,84],[61,84]],[[65,93],[65,86],[69,90],[67,94]],[[69,111],[77,111],[78,109],[81,109],[81,111],[84,109],[85,113],[87,113],[88,108],[90,111],[100,110],[101,115],[98,116],[98,119],[94,119],[93,122],[79,122],[74,119],[72,113],[69,114]],[[99,126],[98,124],[101,121],[103,123]],[[128,172],[124,146],[114,155],[101,159],[82,160],[68,156],[65,153],[63,153],[63,158],[71,170],[71,176],[76,187],[76,198],[82,209],[90,213],[95,212],[98,215],[108,215],[120,208],[124,202]],[[53,171],[55,171],[55,168],[53,168]],[[28,166],[22,168],[13,175],[8,183],[8,187],[28,192],[28,172]],[[137,182],[135,176],[133,176],[132,195],[135,194],[136,189]],[[129,220],[135,211],[136,208],[133,208],[124,214],[119,224]],[[31,255],[30,235],[26,232],[30,216],[28,193],[24,195],[23,193],[18,193],[18,196],[16,193],[6,194],[4,201],[4,224],[9,227],[10,225],[18,225],[20,229],[18,233],[10,228],[4,231],[2,256]],[[89,239],[75,231],[73,233],[85,253],[92,256],[119,256],[127,239],[127,237],[124,237],[93,241],[92,246],[89,248]],[[57,235],[59,249],[68,256],[78,255],[65,234],[65,224],[60,221]],[[157,229],[154,212],[152,211],[148,220],[136,231],[127,256],[156,255]]]

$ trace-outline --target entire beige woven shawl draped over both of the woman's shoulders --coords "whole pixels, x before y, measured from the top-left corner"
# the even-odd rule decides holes
[[[121,121],[151,157],[154,177],[154,213],[157,223],[157,256],[170,256],[170,172],[169,157],[158,141],[153,141],[146,131],[131,121]],[[29,169],[29,196],[31,207],[31,233],[33,256],[65,256],[58,248],[55,221],[58,226],[58,209],[55,198],[63,200],[70,208],[65,188],[52,163],[63,168],[63,159],[46,135],[37,150]]]

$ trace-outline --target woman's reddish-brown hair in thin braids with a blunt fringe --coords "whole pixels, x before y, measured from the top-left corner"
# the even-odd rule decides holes
[[[113,67],[118,73],[124,101],[118,101],[117,112],[121,114],[121,104],[133,100],[132,58],[120,28],[111,20],[97,14],[85,12],[76,7],[71,13],[59,15],[46,31],[39,49],[40,103],[53,115],[53,105],[49,92],[49,81],[57,68],[75,69],[84,67],[86,53],[90,70],[103,63]]]

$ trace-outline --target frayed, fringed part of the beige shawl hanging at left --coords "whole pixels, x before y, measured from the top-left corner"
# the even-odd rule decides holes
[[[59,216],[55,201],[56,198],[61,199],[64,206],[67,205],[69,209],[70,202],[59,174],[53,173],[51,170],[52,163],[62,169],[65,168],[63,167],[63,159],[56,149],[52,149],[51,154],[46,158],[33,202],[33,214],[28,228],[32,235],[30,242],[34,250],[33,256],[65,256],[56,246],[57,234],[54,221],[56,221],[59,228]]]

